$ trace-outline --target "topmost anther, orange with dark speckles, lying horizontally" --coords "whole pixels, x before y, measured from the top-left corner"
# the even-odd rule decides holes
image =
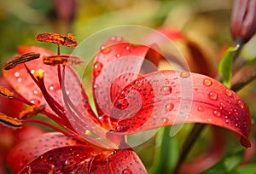
[[[40,42],[61,44],[67,47],[76,47],[78,45],[71,33],[68,33],[67,36],[63,36],[61,34],[46,32],[38,34],[36,39]]]

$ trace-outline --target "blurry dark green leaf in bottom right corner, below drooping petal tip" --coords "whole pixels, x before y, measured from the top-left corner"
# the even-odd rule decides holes
[[[243,159],[245,149],[244,148],[236,148],[235,150],[230,151],[230,153],[226,154],[223,159],[219,160],[216,165],[213,165],[211,168],[207,169],[207,171],[201,172],[201,174],[231,174],[236,173],[235,170],[238,165],[241,164],[241,160]]]

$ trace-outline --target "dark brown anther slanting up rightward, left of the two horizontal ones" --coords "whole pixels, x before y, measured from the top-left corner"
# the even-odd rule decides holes
[[[10,58],[5,64],[3,64],[4,70],[9,70],[21,63],[25,63],[27,61],[32,61],[34,59],[38,59],[40,57],[39,53],[29,52],[22,55],[15,55],[14,57]]]

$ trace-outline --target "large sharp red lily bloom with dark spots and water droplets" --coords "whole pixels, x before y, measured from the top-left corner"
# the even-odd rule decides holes
[[[102,44],[92,74],[96,113],[68,60],[36,46],[18,48],[19,55],[29,52],[40,57],[3,69],[3,76],[26,104],[44,105],[42,113],[63,129],[21,117],[22,123],[37,122],[61,133],[18,144],[8,157],[15,173],[147,173],[125,136],[183,122],[224,127],[250,147],[250,113],[241,98],[201,74],[174,70],[144,74],[143,61],[161,56],[150,46],[119,38]],[[49,56],[52,66],[49,60],[48,65],[43,63]]]

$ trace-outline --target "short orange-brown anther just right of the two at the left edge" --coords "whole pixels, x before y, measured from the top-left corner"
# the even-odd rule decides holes
[[[32,116],[37,115],[44,111],[45,105],[33,105],[32,107],[27,107],[26,110],[21,111],[19,114],[19,119],[30,119]]]

